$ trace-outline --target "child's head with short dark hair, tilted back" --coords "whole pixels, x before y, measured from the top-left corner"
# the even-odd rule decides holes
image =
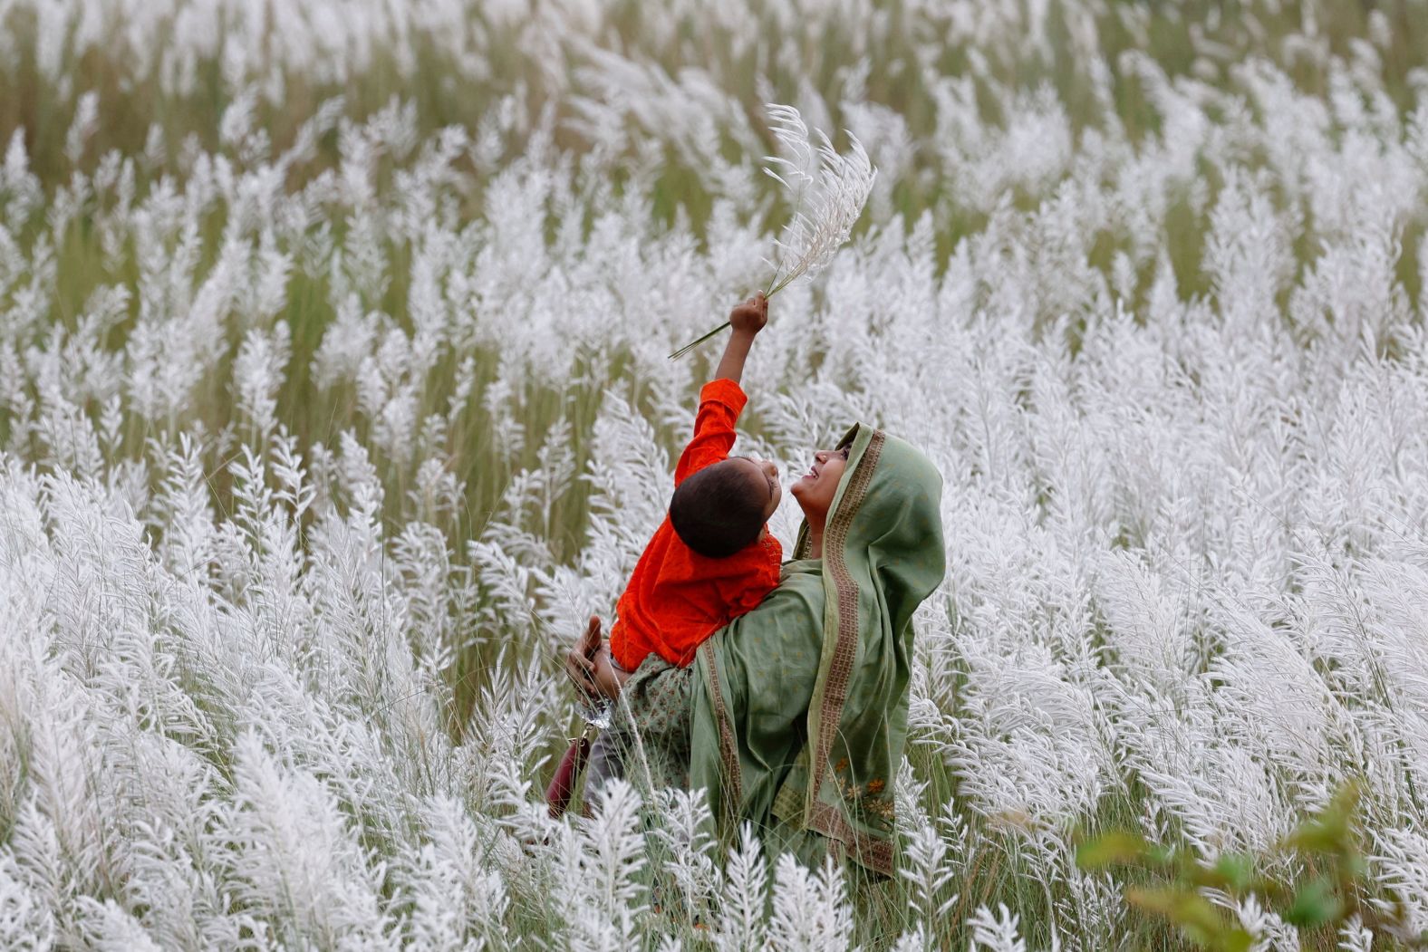
[[[704,467],[674,490],[670,522],[700,555],[724,558],[758,538],[781,498],[778,467],[768,460],[731,457]]]

